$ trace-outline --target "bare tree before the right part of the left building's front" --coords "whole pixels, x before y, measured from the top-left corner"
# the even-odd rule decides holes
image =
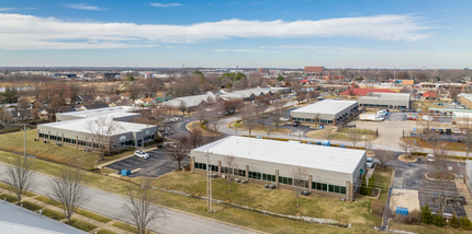
[[[103,161],[105,152],[111,150],[112,136],[119,132],[122,126],[110,116],[99,116],[89,119],[86,128],[92,133],[93,143],[99,144],[100,160]]]

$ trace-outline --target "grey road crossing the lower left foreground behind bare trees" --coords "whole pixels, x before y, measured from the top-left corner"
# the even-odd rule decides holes
[[[0,164],[0,180],[5,179],[4,164]],[[52,178],[43,174],[35,174],[37,179],[35,182],[34,192],[45,196],[47,192],[47,182]],[[120,220],[123,222],[132,223],[132,217],[123,209],[124,198],[114,194],[102,191],[99,189],[90,188],[90,201],[83,206],[85,209],[92,212]],[[165,209],[170,222],[166,225],[154,231],[159,233],[255,233],[245,229],[223,224],[215,221],[198,218],[194,215],[181,213],[178,211]]]

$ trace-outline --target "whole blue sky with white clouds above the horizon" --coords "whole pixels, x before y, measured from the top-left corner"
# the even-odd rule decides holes
[[[0,67],[472,69],[471,0],[0,0]]]

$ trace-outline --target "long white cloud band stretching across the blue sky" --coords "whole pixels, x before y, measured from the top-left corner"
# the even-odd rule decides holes
[[[0,49],[125,48],[158,43],[209,39],[357,37],[375,40],[420,40],[420,19],[378,15],[321,21],[225,20],[192,25],[69,22],[55,17],[0,13]]]

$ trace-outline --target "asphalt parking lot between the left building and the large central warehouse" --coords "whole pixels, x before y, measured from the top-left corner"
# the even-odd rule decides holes
[[[147,152],[149,159],[144,160],[139,157],[128,157],[116,163],[112,163],[106,167],[116,169],[121,173],[122,169],[130,169],[132,174],[130,177],[149,176],[159,177],[169,172],[177,169],[177,162],[171,161],[168,152],[165,150],[153,150]],[[187,157],[181,162],[181,166],[189,165],[190,159]]]

